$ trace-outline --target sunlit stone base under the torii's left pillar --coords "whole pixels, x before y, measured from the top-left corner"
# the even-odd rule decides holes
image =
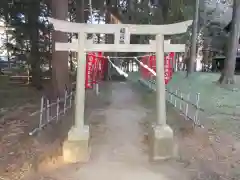
[[[63,160],[66,163],[88,162],[90,157],[89,126],[72,127],[63,143]]]

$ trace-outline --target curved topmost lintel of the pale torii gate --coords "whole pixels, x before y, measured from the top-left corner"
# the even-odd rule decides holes
[[[188,26],[192,24],[192,20],[168,25],[82,24],[53,18],[48,18],[48,20],[54,24],[56,30],[62,32],[79,33],[85,29],[87,33],[114,34],[121,28],[126,28],[128,33],[136,35],[181,34],[185,33]]]

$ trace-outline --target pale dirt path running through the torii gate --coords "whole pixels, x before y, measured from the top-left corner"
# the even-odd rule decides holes
[[[95,109],[91,124],[91,159],[85,165],[65,166],[42,175],[55,180],[190,180],[176,162],[148,161],[146,127],[148,109],[131,85],[112,83],[102,91],[109,105]]]

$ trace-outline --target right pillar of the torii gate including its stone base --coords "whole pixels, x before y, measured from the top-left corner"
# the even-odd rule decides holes
[[[149,158],[158,161],[171,158],[175,153],[173,130],[167,125],[164,82],[164,36],[156,36],[156,107],[157,120],[150,131]]]

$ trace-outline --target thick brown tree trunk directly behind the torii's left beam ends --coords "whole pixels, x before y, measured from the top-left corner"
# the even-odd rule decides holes
[[[52,15],[56,19],[67,20],[68,0],[52,0]],[[52,82],[55,96],[64,96],[64,91],[70,86],[68,72],[68,52],[55,51],[55,42],[68,42],[68,36],[63,32],[53,32]]]

